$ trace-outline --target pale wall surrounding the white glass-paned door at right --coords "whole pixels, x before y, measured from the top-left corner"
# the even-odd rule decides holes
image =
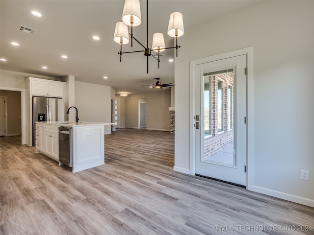
[[[185,32],[175,63],[177,169],[190,171],[189,62],[253,46],[249,189],[314,207],[313,9],[314,1],[261,1]]]

